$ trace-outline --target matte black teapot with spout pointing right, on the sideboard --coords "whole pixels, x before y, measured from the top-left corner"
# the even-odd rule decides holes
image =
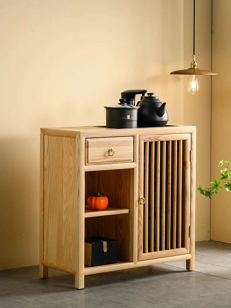
[[[161,103],[158,96],[154,93],[147,93],[141,96],[136,104],[139,106],[137,126],[138,127],[158,127],[168,123],[168,112],[165,108],[166,103]]]

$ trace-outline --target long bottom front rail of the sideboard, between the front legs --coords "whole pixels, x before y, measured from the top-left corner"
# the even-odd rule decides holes
[[[126,270],[126,269],[141,267],[141,266],[188,260],[191,257],[192,257],[191,254],[188,253],[188,254],[183,254],[183,255],[173,256],[173,257],[165,257],[165,258],[159,258],[159,259],[139,261],[137,262],[137,264],[133,262],[122,262],[122,263],[120,262],[120,263],[113,264],[113,265],[88,267],[84,269],[84,275],[92,275],[92,274],[97,274],[97,273],[112,272],[115,270]]]

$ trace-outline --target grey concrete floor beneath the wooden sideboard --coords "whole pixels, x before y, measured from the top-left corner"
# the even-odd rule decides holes
[[[185,261],[150,265],[86,276],[83,290],[71,274],[38,276],[37,265],[0,271],[0,307],[231,307],[231,245],[215,241],[196,243],[193,272]]]

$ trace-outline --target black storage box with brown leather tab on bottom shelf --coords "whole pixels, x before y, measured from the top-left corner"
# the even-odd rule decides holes
[[[84,241],[85,265],[99,266],[117,263],[117,240],[97,236],[85,237]]]

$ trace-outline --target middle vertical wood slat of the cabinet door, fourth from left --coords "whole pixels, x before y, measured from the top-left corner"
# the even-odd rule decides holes
[[[161,250],[164,250],[165,245],[165,172],[166,172],[166,141],[162,142],[162,216],[161,216]]]

